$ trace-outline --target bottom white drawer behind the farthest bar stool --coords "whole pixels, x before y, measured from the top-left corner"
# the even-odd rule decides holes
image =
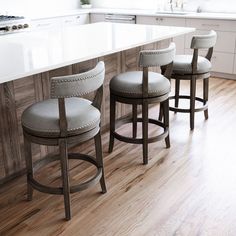
[[[193,50],[185,49],[185,54],[192,54]],[[200,52],[201,56],[206,55],[206,51],[202,50]],[[214,72],[221,72],[232,74],[233,73],[233,64],[234,64],[234,54],[230,53],[221,53],[221,52],[214,52],[212,59],[212,71]]]

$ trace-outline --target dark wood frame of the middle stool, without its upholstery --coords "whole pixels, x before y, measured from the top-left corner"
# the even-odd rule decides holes
[[[173,63],[169,63],[165,66],[164,76],[170,78],[172,73]],[[162,96],[149,97],[148,94],[148,70],[149,67],[143,67],[143,84],[142,84],[142,98],[131,98],[118,96],[110,90],[110,142],[109,152],[113,151],[114,139],[119,141],[142,144],[143,146],[143,164],[148,164],[148,143],[153,143],[165,139],[166,147],[170,147],[169,138],[169,93],[163,94]],[[120,118],[116,120],[116,102],[131,104],[132,105],[132,116],[128,118]],[[148,105],[162,103],[163,107],[163,122],[161,120],[149,119],[148,118]],[[142,118],[137,117],[137,105],[142,106]],[[142,123],[142,138],[137,138],[137,122]],[[116,129],[124,124],[132,123],[133,135],[132,137],[126,137],[116,132]],[[163,133],[160,135],[149,138],[148,137],[148,123],[158,125],[163,128]]]

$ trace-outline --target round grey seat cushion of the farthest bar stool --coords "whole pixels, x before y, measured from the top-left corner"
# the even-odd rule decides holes
[[[173,74],[192,74],[192,55],[176,55],[173,62]],[[211,62],[205,57],[198,57],[197,74],[208,73],[211,70]]]

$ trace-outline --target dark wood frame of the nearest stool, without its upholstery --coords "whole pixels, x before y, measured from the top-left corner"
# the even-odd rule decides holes
[[[103,85],[100,86],[99,89],[97,90],[95,98],[92,103],[92,105],[99,110],[101,110],[102,97],[103,97]],[[27,168],[28,200],[32,200],[33,189],[36,189],[44,193],[64,195],[65,218],[66,220],[70,220],[71,219],[70,193],[75,193],[87,189],[91,186],[94,186],[99,181],[102,188],[102,193],[106,193],[107,190],[104,177],[100,127],[96,127],[92,130],[87,131],[86,133],[74,136],[68,136],[64,97],[58,98],[58,105],[59,105],[59,125],[60,125],[59,138],[40,137],[39,134],[33,135],[32,131],[28,131],[27,128],[23,126],[25,160]],[[95,141],[96,159],[92,156],[85,154],[68,153],[69,144],[74,144],[74,143],[79,144],[91,138],[94,138]],[[44,159],[33,163],[31,143],[47,145],[47,146],[59,146],[59,154],[46,156]],[[75,186],[70,186],[69,171],[68,171],[69,159],[77,159],[91,163],[97,169],[95,176],[93,176],[86,182],[80,183]],[[61,163],[62,187],[49,187],[39,183],[36,179],[34,179],[35,171],[44,167],[48,163],[56,160],[60,160]]]

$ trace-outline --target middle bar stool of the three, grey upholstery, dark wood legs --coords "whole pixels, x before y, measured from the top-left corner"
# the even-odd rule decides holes
[[[175,44],[162,50],[144,50],[140,52],[139,66],[143,71],[131,71],[119,74],[110,81],[110,142],[109,152],[112,152],[114,138],[134,144],[143,145],[143,163],[148,163],[148,143],[165,139],[166,147],[169,140],[169,92],[172,62],[175,55]],[[149,67],[166,66],[164,75],[149,72]],[[128,119],[116,120],[116,102],[131,104],[133,116]],[[163,103],[164,121],[148,118],[148,105]],[[142,118],[137,118],[137,105],[142,105]],[[116,132],[120,126],[132,122],[133,137],[126,137]],[[137,138],[137,122],[142,122],[142,138]],[[162,134],[148,137],[148,123],[163,128]]]

